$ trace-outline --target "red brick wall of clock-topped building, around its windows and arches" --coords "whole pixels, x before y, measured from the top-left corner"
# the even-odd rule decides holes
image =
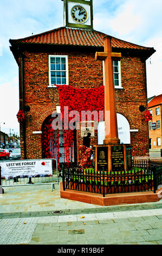
[[[73,50],[73,49],[72,49]],[[95,61],[93,52],[23,52],[24,58],[24,105],[30,106],[26,112],[25,144],[26,158],[42,157],[41,135],[33,131],[41,131],[44,121],[56,106],[60,105],[57,88],[48,88],[48,56],[49,54],[68,55],[69,85],[80,88],[93,88],[103,85],[102,62]],[[147,105],[146,68],[140,57],[124,57],[121,59],[121,83],[123,89],[115,89],[117,112],[125,115],[130,129],[138,129],[131,133],[132,153],[134,156],[148,155],[148,124],[144,114],[139,111],[140,105]],[[21,61],[20,61],[20,107],[21,96]],[[96,137],[92,144],[97,143]],[[77,132],[77,146],[82,144],[80,131]],[[21,125],[21,151],[23,150],[23,127]]]

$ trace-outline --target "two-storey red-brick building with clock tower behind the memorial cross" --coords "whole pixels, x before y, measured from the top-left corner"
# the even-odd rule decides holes
[[[25,122],[20,124],[22,159],[51,158],[59,154],[58,147],[62,155],[67,154],[63,151],[64,130],[60,130],[59,142],[55,139],[53,144],[53,131],[48,129],[53,120],[51,114],[59,113],[66,100],[74,101],[76,107],[82,99],[82,110],[86,111],[95,110],[94,103],[103,106],[104,63],[95,60],[95,52],[104,50],[106,34],[93,29],[91,0],[78,1],[78,4],[64,0],[64,12],[64,27],[23,39],[10,39],[10,50],[19,69],[20,109],[25,112]],[[75,19],[79,13],[82,20]],[[139,107],[147,107],[146,59],[155,50],[114,37],[112,50],[122,55],[120,62],[113,62],[119,138],[121,143],[131,143],[133,156],[148,156],[148,123]],[[85,109],[87,102],[93,108]],[[81,103],[77,107],[79,109]],[[53,139],[56,136],[58,134],[53,135]],[[73,161],[78,161],[78,148],[83,143],[81,130],[74,130],[71,137],[74,143],[69,150],[73,150]],[[103,122],[94,130],[90,144],[102,141]]]

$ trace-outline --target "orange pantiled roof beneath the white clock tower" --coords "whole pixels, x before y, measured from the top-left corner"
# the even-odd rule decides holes
[[[103,47],[103,38],[106,34],[95,30],[60,27],[48,32],[32,35],[27,38],[11,40],[15,44],[48,44],[48,45],[73,45]],[[112,37],[112,47],[129,48],[134,50],[152,50],[153,48],[132,44]],[[152,53],[153,53],[152,52]]]

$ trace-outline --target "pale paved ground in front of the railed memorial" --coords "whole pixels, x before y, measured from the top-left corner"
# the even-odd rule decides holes
[[[161,245],[162,200],[99,206],[60,198],[60,184],[4,187],[1,245]],[[62,211],[54,214],[54,211]]]

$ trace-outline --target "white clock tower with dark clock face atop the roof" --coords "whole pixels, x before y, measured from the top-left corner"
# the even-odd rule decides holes
[[[64,0],[64,26],[93,29],[93,0]]]

